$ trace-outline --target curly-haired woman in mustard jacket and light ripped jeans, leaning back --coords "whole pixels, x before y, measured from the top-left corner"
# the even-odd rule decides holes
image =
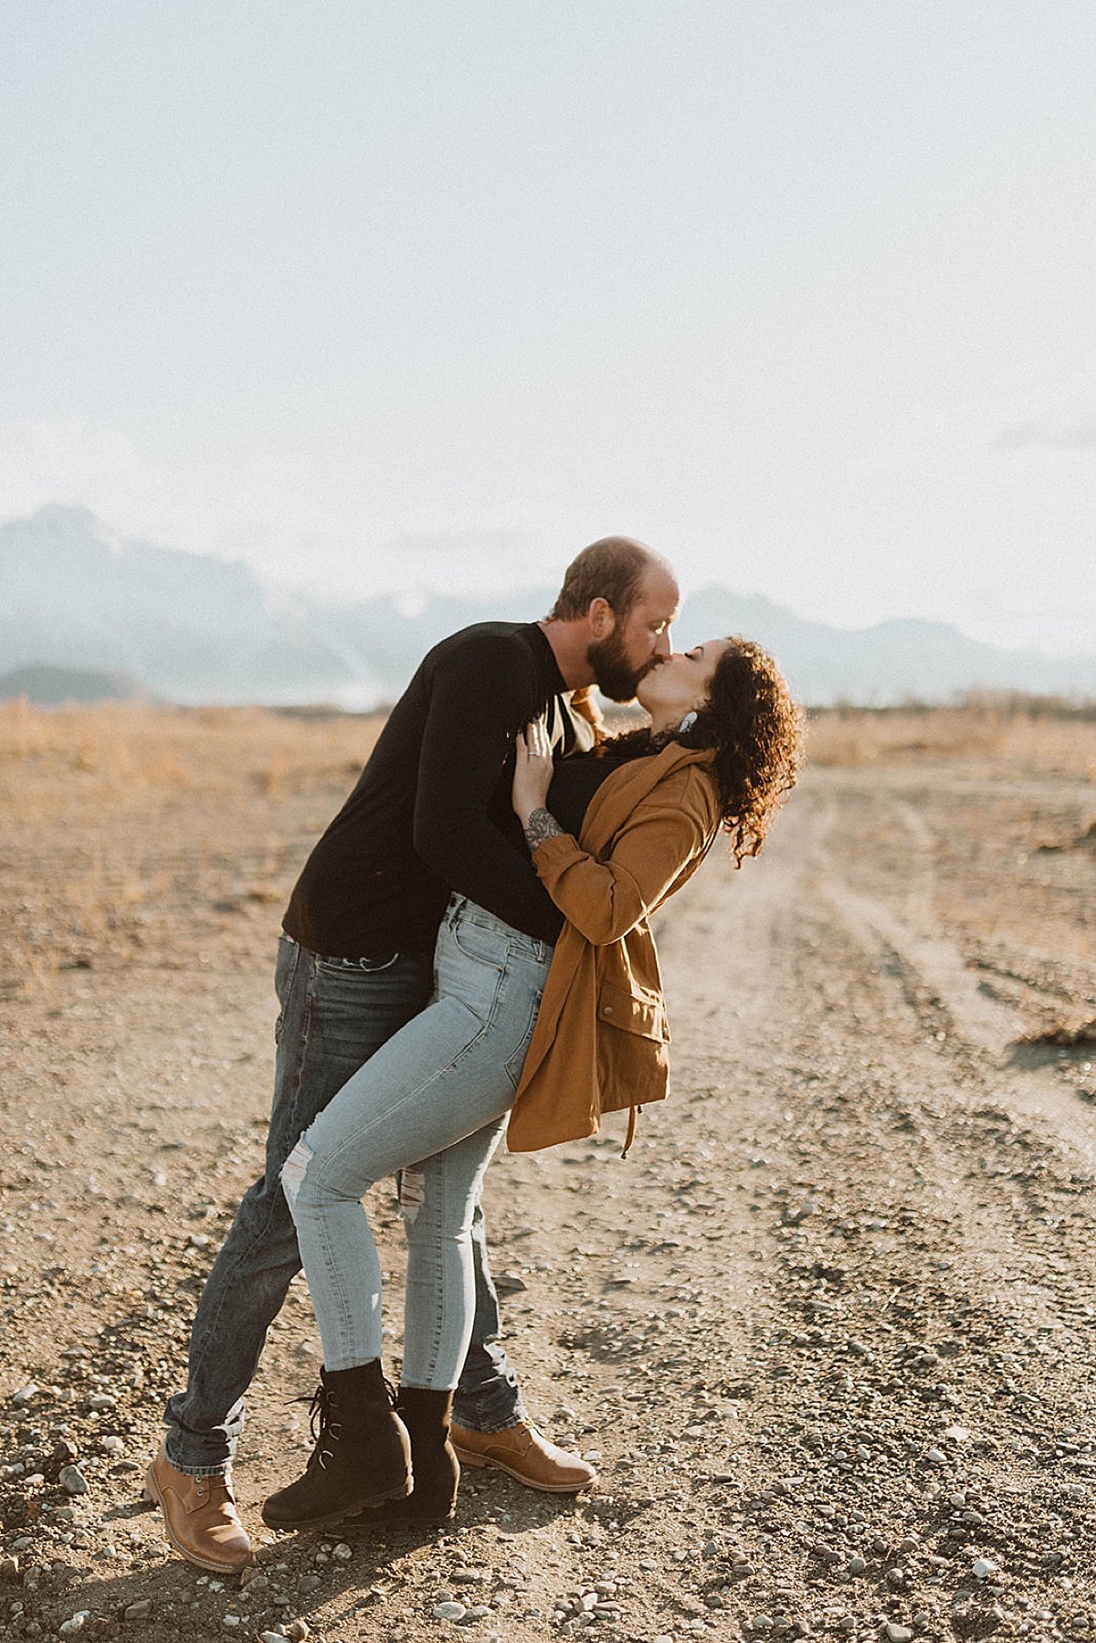
[[[449,1410],[472,1329],[472,1211],[511,1106],[511,1144],[541,1147],[592,1134],[601,1111],[634,1114],[665,1094],[649,914],[692,876],[720,826],[738,864],[759,851],[795,782],[802,726],[772,659],[744,639],[669,657],[638,698],[647,729],[555,771],[541,726],[518,738],[514,810],[567,918],[555,956],[454,897],[434,1001],[286,1160],[324,1370],[307,1470],[263,1507],[274,1528],[370,1507],[388,1521],[452,1513]],[[394,1410],[380,1364],[381,1275],[360,1199],[396,1171],[409,1254]]]

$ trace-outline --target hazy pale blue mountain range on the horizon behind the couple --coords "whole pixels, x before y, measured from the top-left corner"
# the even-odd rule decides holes
[[[90,513],[51,506],[0,526],[0,695],[33,695],[35,674],[20,670],[46,667],[113,675],[115,695],[128,675],[127,693],[179,703],[368,708],[394,700],[447,633],[486,618],[536,619],[552,596],[306,598],[265,588],[243,564],[117,544]],[[1096,654],[1002,651],[917,619],[831,628],[721,587],[685,600],[674,637],[688,646],[728,633],[772,651],[812,705],[938,702],[974,688],[1096,698]]]

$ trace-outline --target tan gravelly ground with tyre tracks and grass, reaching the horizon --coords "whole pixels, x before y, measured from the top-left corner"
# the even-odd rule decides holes
[[[283,894],[345,785],[150,782],[0,841],[0,1633],[1096,1635],[1096,1047],[1048,1042],[1096,1015],[1093,790],[983,757],[813,767],[662,917],[674,1093],[631,1157],[615,1129],[493,1165],[513,1355],[595,1493],[467,1474],[452,1531],[266,1536],[243,1589],[169,1554],[141,1467],[260,1162]],[[113,922],[62,940],[89,877]],[[256,1531],[317,1364],[294,1288],[237,1472]]]

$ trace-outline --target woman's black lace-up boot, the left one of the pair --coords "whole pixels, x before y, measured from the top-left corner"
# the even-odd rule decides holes
[[[320,1528],[411,1493],[411,1439],[393,1408],[380,1359],[320,1370],[312,1398],[315,1447],[296,1484],[263,1503],[273,1530]],[[317,1431],[319,1420],[319,1431]]]

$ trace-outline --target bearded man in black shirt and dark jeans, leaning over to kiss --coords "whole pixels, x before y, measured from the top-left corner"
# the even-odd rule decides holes
[[[281,1014],[266,1173],[245,1194],[199,1301],[186,1392],[168,1403],[148,1472],[171,1544],[202,1569],[251,1556],[230,1472],[243,1395],[266,1329],[301,1270],[279,1171],[347,1079],[426,1007],[450,892],[554,943],[559,910],[529,863],[509,802],[514,736],[542,718],[560,756],[595,731],[572,692],[629,700],[670,651],[670,567],[641,542],[605,537],[569,567],[541,623],[480,623],[437,644],[393,708],[347,803],[292,891],[279,943]],[[473,1231],[475,1326],[455,1397],[462,1461],[532,1489],[573,1493],[595,1472],[529,1424],[500,1344],[483,1216]]]

